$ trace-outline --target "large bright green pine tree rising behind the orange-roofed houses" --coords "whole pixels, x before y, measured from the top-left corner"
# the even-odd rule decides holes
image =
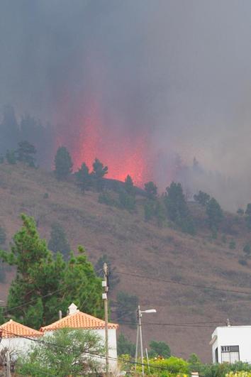
[[[10,251],[0,251],[0,258],[16,266],[6,312],[18,322],[39,329],[57,320],[59,310],[67,312],[74,302],[79,310],[103,317],[101,279],[88,261],[84,248],[64,261],[61,253],[53,255],[46,241],[40,239],[32,217],[21,216],[23,226],[13,237]],[[32,305],[30,305],[32,303]],[[15,310],[11,308],[15,307]]]

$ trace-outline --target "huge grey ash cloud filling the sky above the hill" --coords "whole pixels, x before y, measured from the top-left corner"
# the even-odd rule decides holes
[[[0,106],[57,125],[73,148],[92,99],[109,148],[147,140],[162,189],[179,177],[225,208],[251,201],[249,0],[2,0],[0,8]],[[184,166],[196,156],[203,173],[180,169],[177,155]]]

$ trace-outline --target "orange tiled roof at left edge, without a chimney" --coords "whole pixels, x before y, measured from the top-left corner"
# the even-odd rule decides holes
[[[0,331],[2,331],[3,338],[16,338],[16,337],[41,337],[41,332],[30,329],[21,323],[15,322],[10,319],[8,322],[1,324]]]

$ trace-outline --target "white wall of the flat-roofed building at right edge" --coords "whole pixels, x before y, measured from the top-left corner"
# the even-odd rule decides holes
[[[213,363],[218,347],[218,362],[221,363],[221,346],[239,346],[240,361],[251,363],[251,326],[217,327],[212,334],[217,339],[212,345]]]

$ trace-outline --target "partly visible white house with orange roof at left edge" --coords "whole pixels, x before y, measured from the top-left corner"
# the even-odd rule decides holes
[[[33,340],[43,337],[41,332],[15,322],[12,319],[1,324],[0,334],[0,351],[7,348],[10,352],[13,351],[14,354],[27,351],[30,345],[34,343]]]

